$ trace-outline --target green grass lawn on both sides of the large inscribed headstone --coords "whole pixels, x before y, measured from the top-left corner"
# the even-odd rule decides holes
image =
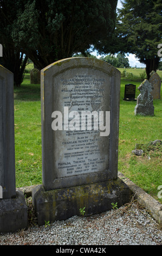
[[[142,71],[138,70],[133,80],[121,79],[118,170],[162,203],[157,196],[158,186],[162,185],[161,148],[143,156],[132,155],[135,144],[162,139],[162,100],[154,100],[154,117],[134,116],[136,101],[123,100],[127,83],[135,84],[135,96],[139,95],[139,74]],[[30,76],[25,74],[21,87],[14,89],[14,99],[16,187],[41,184],[40,85],[30,84]]]

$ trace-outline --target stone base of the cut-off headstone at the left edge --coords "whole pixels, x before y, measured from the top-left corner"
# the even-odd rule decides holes
[[[0,233],[28,228],[28,207],[21,191],[16,197],[0,199]]]

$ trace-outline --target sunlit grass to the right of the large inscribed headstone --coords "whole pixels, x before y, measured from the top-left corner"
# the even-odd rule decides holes
[[[118,170],[159,202],[162,202],[157,197],[158,186],[162,185],[162,148],[159,147],[156,151],[149,151],[148,154],[143,156],[132,154],[136,144],[147,144],[156,139],[162,139],[162,102],[161,100],[154,100],[154,117],[135,116],[136,101],[123,100],[126,83],[128,81],[121,80]],[[134,82],[133,84],[137,86],[137,97],[140,93],[138,90],[140,82]]]

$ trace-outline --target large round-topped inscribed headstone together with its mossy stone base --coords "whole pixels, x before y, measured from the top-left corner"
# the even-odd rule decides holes
[[[118,178],[119,101],[120,72],[102,60],[68,58],[41,71],[43,185],[32,191],[38,225],[128,202]]]

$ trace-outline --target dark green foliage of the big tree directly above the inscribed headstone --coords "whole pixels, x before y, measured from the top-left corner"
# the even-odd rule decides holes
[[[117,0],[34,0],[18,9],[12,39],[42,69],[56,60],[105,51],[115,29]]]

